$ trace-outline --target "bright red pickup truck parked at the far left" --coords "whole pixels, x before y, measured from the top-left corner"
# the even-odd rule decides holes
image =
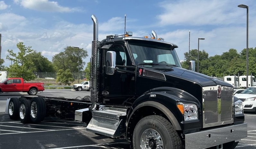
[[[38,91],[44,91],[44,83],[24,83],[22,78],[7,78],[0,82],[1,92],[27,92],[36,95]]]

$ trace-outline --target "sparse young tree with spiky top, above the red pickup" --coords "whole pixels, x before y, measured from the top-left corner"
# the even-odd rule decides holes
[[[23,42],[17,43],[17,48],[19,49],[18,53],[7,50],[11,57],[7,55],[6,59],[13,61],[13,65],[7,67],[8,77],[21,77],[25,81],[35,79],[36,76],[32,73],[35,69],[31,67],[33,63],[26,58],[26,55],[33,52],[33,50],[30,46],[26,47]]]

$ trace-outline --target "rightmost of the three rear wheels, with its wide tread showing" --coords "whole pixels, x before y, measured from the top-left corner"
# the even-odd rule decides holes
[[[33,97],[30,106],[30,119],[33,123],[39,123],[44,120],[46,115],[46,103],[41,97]]]

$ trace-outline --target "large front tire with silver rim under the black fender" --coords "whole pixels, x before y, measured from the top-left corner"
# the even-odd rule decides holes
[[[133,148],[181,149],[181,139],[173,125],[164,117],[150,115],[142,118],[133,131]]]

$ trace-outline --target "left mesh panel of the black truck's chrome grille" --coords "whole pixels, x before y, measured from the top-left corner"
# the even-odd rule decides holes
[[[204,91],[204,122],[206,124],[218,122],[217,90]]]

